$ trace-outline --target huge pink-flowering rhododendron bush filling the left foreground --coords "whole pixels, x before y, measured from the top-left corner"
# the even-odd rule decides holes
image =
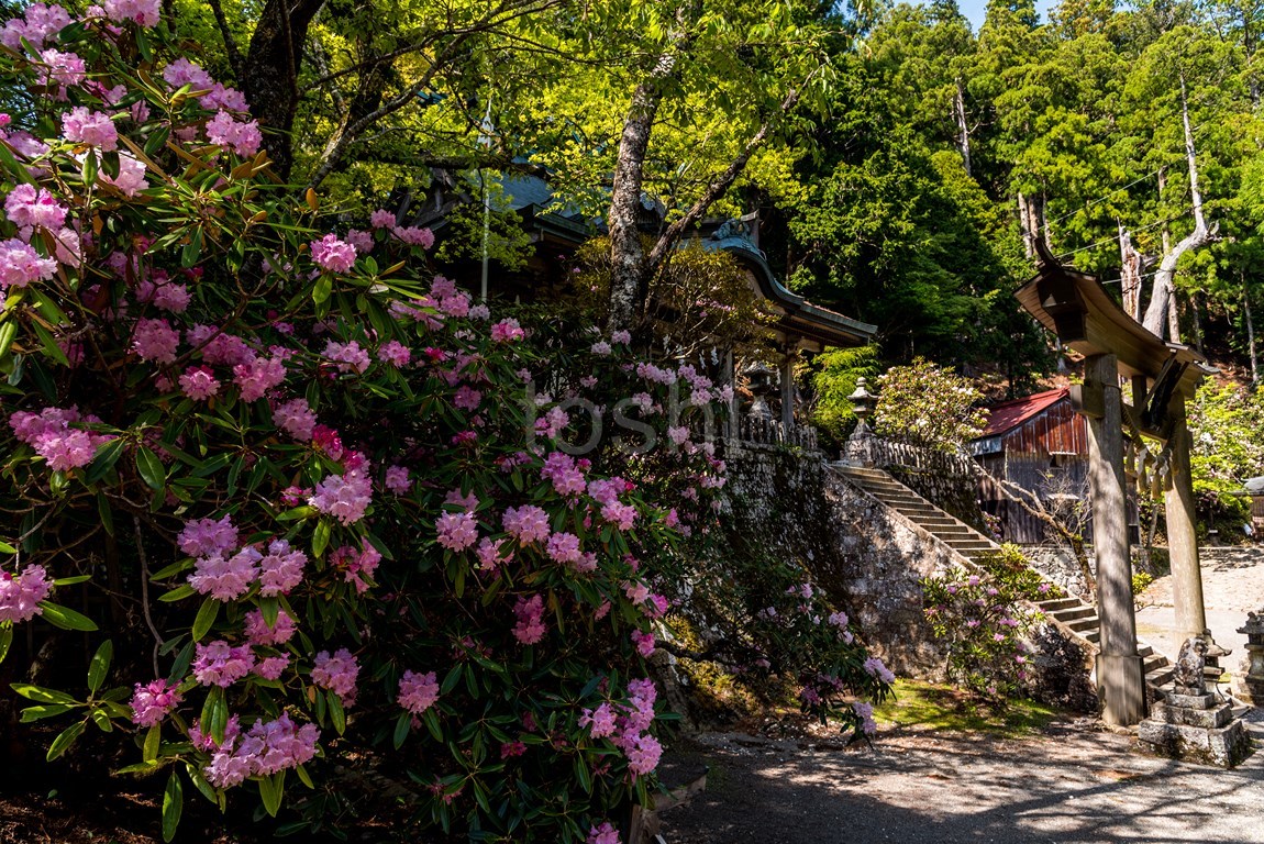
[[[29,95],[0,116],[0,660],[48,758],[164,790],[167,838],[198,792],[289,830],[386,804],[614,841],[662,752],[648,662],[690,613],[747,671],[811,639],[805,705],[866,730],[848,701],[886,678],[810,585],[777,581],[758,630],[755,593],[690,600],[726,580],[723,390],[493,316],[389,212],[331,225],[158,10],[0,30]]]

